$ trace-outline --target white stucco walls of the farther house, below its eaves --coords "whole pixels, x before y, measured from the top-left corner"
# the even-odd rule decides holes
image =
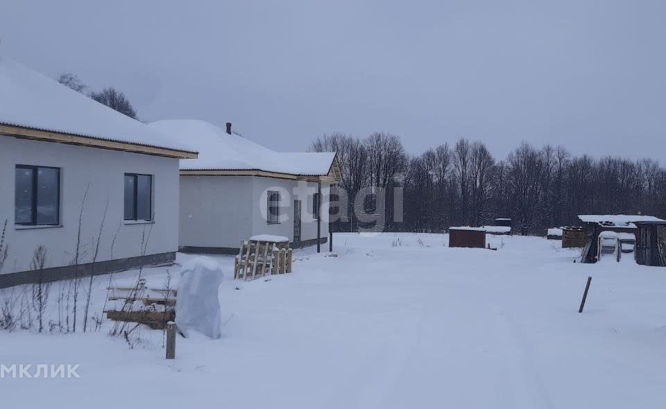
[[[328,237],[329,186],[322,184],[321,237]],[[280,191],[280,223],[266,223],[266,193]],[[181,176],[180,245],[237,248],[256,234],[287,236],[293,241],[293,200],[301,200],[301,241],[314,240],[314,182],[272,177]]]

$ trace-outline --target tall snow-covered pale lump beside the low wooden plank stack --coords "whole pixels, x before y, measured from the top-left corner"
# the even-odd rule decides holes
[[[219,287],[223,279],[221,267],[209,257],[197,256],[182,266],[176,325],[185,337],[190,331],[210,338],[222,336]]]

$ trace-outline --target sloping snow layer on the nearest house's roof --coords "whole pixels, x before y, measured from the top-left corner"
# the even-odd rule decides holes
[[[0,55],[0,124],[196,153],[19,62]]]

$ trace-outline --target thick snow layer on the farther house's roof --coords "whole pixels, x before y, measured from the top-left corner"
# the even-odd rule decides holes
[[[180,162],[181,170],[257,170],[321,176],[328,174],[335,158],[334,152],[275,152],[206,121],[164,120],[149,123],[148,127],[164,134],[184,135],[196,146],[198,159]]]

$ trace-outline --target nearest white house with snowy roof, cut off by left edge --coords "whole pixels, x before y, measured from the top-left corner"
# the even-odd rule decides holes
[[[0,287],[173,261],[196,156],[0,55]]]

